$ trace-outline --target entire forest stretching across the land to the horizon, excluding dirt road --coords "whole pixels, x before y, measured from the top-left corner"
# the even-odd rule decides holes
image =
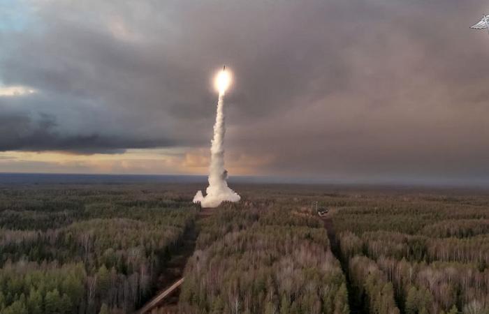
[[[0,313],[133,313],[189,234],[152,313],[489,313],[485,191],[238,189],[203,215],[191,185],[1,186]]]

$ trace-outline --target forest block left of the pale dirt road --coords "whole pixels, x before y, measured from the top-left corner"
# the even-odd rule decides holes
[[[0,190],[0,313],[131,313],[194,224],[148,186]]]

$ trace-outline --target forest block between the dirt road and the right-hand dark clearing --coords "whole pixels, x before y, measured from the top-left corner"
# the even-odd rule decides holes
[[[349,313],[326,230],[309,209],[297,208],[242,202],[206,218],[185,270],[180,313]]]

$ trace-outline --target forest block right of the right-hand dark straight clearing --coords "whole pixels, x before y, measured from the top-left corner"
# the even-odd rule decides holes
[[[397,195],[369,202],[355,200],[333,216],[342,261],[365,311],[489,313],[487,197]]]

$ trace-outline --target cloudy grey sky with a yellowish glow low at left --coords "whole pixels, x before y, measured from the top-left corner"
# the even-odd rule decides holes
[[[0,172],[489,182],[481,0],[0,0]]]

